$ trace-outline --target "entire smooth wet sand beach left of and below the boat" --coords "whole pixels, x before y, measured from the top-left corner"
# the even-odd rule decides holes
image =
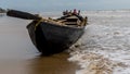
[[[31,21],[0,18],[0,74],[75,74],[78,65],[62,52],[41,57],[28,36]]]

